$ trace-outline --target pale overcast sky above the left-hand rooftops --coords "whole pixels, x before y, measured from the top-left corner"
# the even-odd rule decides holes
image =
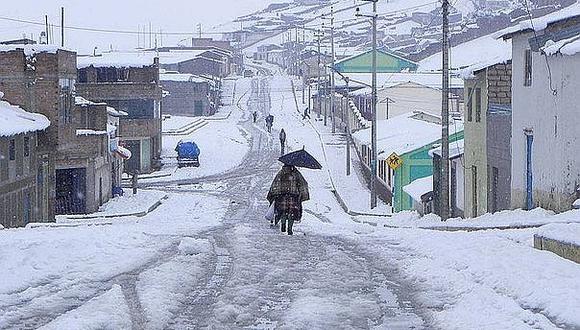
[[[60,24],[60,7],[65,7],[65,26],[137,31],[139,25],[165,32],[197,31],[201,23],[205,32],[216,32],[214,26],[266,7],[280,0],[2,0],[0,17],[44,22],[49,16],[53,24]],[[19,38],[23,33],[35,39],[43,26],[0,20],[0,39]],[[60,30],[54,30],[60,42]],[[210,36],[210,35],[206,35]],[[219,37],[217,35],[212,35]],[[191,36],[164,37],[164,44],[177,43]],[[92,33],[66,30],[66,46],[80,52],[98,49],[129,49],[137,46],[136,35]],[[147,44],[149,40],[146,40]]]

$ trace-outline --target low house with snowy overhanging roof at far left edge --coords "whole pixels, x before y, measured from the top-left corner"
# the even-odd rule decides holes
[[[48,221],[48,212],[43,212],[48,204],[48,185],[37,144],[38,132],[50,121],[1,100],[2,96],[0,92],[0,227]]]

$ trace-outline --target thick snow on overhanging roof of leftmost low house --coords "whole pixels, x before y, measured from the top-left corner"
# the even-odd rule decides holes
[[[2,97],[0,92],[0,98]],[[42,131],[50,126],[50,121],[38,113],[30,113],[22,108],[0,100],[0,136],[11,136]]]

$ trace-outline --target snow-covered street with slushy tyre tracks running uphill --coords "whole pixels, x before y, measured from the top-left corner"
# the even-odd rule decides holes
[[[365,224],[332,192],[368,203],[360,176],[340,174],[344,137],[302,119],[291,78],[228,80],[224,98],[230,115],[164,137],[166,176],[140,187],[167,199],[145,216],[0,231],[0,328],[580,328],[580,268],[534,250],[537,229]],[[294,236],[264,219],[281,128],[323,166],[302,171],[311,200]],[[182,138],[200,145],[199,168],[177,168]]]

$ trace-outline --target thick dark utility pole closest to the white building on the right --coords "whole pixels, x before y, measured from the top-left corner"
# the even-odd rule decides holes
[[[443,83],[441,104],[441,220],[449,218],[449,0],[443,0]]]

